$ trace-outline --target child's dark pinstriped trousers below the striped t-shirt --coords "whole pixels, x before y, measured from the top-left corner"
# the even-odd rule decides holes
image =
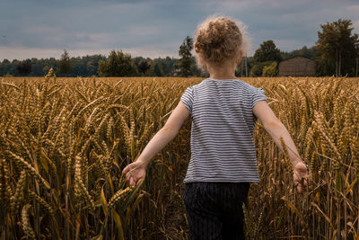
[[[186,183],[189,239],[245,239],[242,203],[247,206],[249,189],[249,182]]]

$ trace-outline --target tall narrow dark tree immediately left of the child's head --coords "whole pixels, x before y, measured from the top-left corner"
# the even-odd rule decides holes
[[[190,76],[192,75],[191,71],[191,62],[192,62],[192,53],[193,49],[193,40],[189,36],[185,40],[183,40],[180,45],[179,55],[180,55],[180,76]]]

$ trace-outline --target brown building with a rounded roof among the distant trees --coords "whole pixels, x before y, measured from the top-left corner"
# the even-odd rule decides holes
[[[289,58],[279,63],[278,76],[315,76],[315,63],[311,58]]]

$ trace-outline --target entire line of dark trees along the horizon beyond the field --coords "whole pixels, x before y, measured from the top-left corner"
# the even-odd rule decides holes
[[[237,76],[276,76],[281,61],[302,56],[316,63],[317,76],[357,76],[359,58],[358,34],[351,20],[339,19],[320,25],[318,40],[291,52],[276,48],[273,40],[265,40],[253,57],[243,58]],[[187,37],[179,49],[180,58],[132,58],[122,50],[112,50],[109,57],[92,55],[70,58],[66,49],[60,59],[4,59],[0,76],[44,76],[53,68],[57,76],[207,76],[192,56],[193,40]]]

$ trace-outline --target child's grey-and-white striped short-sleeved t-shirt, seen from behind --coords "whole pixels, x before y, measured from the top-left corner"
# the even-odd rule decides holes
[[[261,88],[207,78],[180,98],[192,116],[191,158],[184,182],[259,182],[253,107]]]

